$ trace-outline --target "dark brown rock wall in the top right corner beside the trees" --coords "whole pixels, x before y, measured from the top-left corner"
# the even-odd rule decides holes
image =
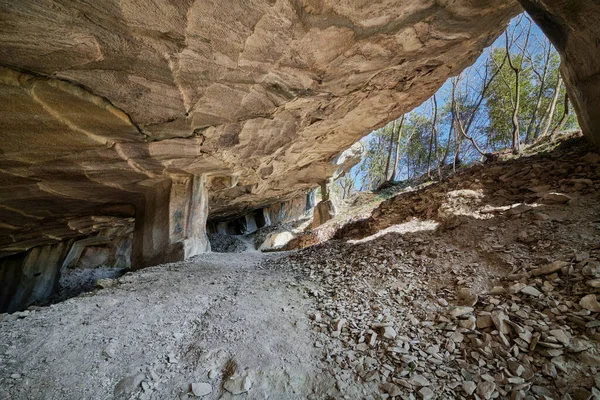
[[[585,136],[600,147],[600,2],[519,0],[561,56],[561,73]]]

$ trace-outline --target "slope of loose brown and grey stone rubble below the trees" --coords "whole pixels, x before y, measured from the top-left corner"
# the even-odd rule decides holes
[[[600,398],[600,156],[574,139],[282,258],[349,398]],[[350,238],[350,239],[349,239]]]

